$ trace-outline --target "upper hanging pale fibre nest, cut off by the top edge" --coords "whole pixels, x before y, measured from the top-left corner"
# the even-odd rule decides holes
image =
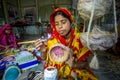
[[[111,4],[112,0],[78,0],[77,10],[84,20],[88,20],[93,7],[95,7],[93,19],[96,19],[109,12]]]

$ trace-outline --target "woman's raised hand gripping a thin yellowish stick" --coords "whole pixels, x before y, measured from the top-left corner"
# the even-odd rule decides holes
[[[45,43],[43,39],[37,39],[35,42],[35,47],[38,51],[40,51],[41,53],[45,53],[46,52],[46,47],[45,47]]]

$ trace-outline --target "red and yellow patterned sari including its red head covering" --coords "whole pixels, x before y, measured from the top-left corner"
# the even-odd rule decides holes
[[[84,47],[80,41],[80,33],[74,31],[74,29],[71,29],[70,31],[70,39],[68,42],[65,42],[65,39],[58,35],[55,29],[54,21],[53,21],[53,15],[57,11],[63,11],[65,14],[71,17],[71,14],[64,8],[58,8],[56,9],[50,16],[50,23],[53,27],[53,35],[48,39],[46,47],[47,51],[50,50],[52,46],[54,46],[57,43],[61,43],[65,46],[68,46],[73,51],[73,56],[75,59],[77,59],[77,62],[81,62],[83,60],[86,60],[88,56],[91,54],[91,51],[88,50],[87,47]],[[71,18],[72,19],[72,18]],[[72,22],[72,20],[71,20]],[[44,65],[44,68],[48,66],[54,66],[58,69],[58,77],[59,78],[65,78],[67,80],[73,80],[71,76],[71,72],[75,72],[77,74],[77,77],[79,80],[97,80],[97,78],[87,69],[75,69],[68,66],[68,64],[65,64],[64,62],[55,62],[53,61],[47,52],[47,58]]]

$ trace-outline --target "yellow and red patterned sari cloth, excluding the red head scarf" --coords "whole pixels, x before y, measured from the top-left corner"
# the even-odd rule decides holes
[[[87,59],[87,57],[89,56],[89,54],[91,54],[91,52],[86,48],[83,47],[81,42],[80,42],[80,38],[79,38],[79,33],[74,33],[75,37],[73,39],[72,42],[72,47],[71,49],[74,52],[74,56],[76,56],[76,59],[78,62]],[[53,45],[60,43],[59,40],[57,40],[56,38],[51,37],[48,42],[47,42],[47,49],[49,50]],[[71,78],[71,71],[74,71],[78,74],[78,77],[81,80],[97,80],[96,77],[89,72],[89,70],[87,69],[72,69],[70,68],[67,64],[64,64],[62,62],[55,62],[53,61],[48,53],[46,54],[47,58],[46,58],[46,63],[44,65],[44,68],[48,67],[48,66],[54,66],[58,69],[58,76],[60,78],[68,78],[69,80],[72,79]]]

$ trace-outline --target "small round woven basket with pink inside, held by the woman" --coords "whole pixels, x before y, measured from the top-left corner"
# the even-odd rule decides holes
[[[62,44],[55,44],[49,50],[50,58],[55,62],[65,62],[69,57],[69,49]]]

